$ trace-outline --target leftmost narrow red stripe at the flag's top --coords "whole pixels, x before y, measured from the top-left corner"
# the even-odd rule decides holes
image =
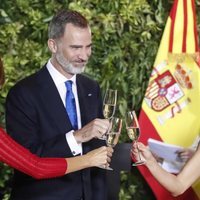
[[[175,24],[175,17],[176,17],[176,10],[177,10],[178,0],[175,0],[173,7],[170,12],[171,18],[171,29],[170,29],[170,36],[169,36],[169,52],[171,53],[173,50],[173,42],[174,42],[174,24]]]

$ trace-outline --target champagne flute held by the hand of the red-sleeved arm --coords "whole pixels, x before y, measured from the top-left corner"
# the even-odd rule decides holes
[[[106,133],[106,144],[108,147],[114,148],[119,141],[119,136],[122,129],[122,119],[113,117],[110,120],[110,127]],[[105,169],[113,170],[111,167],[106,167]]]

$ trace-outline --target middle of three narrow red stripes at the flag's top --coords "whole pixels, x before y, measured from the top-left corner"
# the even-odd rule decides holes
[[[184,28],[183,28],[183,44],[182,44],[182,52],[185,53],[186,52],[186,37],[187,37],[187,27],[188,27],[188,10],[187,10],[187,0],[184,0],[183,2],[183,24],[184,24]]]

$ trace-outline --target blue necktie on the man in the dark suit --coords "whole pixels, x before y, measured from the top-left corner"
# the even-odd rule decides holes
[[[65,86],[67,88],[66,94],[66,111],[69,116],[70,122],[74,130],[78,129],[77,114],[76,114],[76,103],[74,94],[72,92],[72,81],[66,81]]]

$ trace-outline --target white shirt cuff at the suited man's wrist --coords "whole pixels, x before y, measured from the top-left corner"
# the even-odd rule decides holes
[[[74,156],[78,155],[78,154],[81,154],[83,153],[83,150],[82,150],[82,144],[78,144],[76,142],[76,139],[74,137],[74,130],[68,132],[65,134],[65,137],[66,137],[66,140],[67,140],[67,143],[69,145],[69,148],[72,152],[72,154]]]

